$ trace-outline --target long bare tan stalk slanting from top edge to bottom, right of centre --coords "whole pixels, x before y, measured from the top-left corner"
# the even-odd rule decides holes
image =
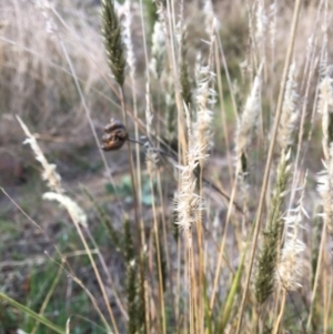
[[[260,195],[260,200],[259,200],[259,208],[258,208],[258,213],[256,213],[256,219],[255,219],[255,229],[254,229],[254,236],[253,236],[251,254],[250,254],[249,272],[246,274],[245,289],[244,289],[243,296],[242,296],[241,307],[240,307],[240,312],[239,312],[239,322],[238,322],[238,327],[236,327],[235,334],[240,334],[241,326],[242,326],[243,313],[244,313],[244,308],[245,308],[250,279],[251,279],[254,255],[255,255],[255,250],[256,250],[256,244],[258,244],[258,237],[259,237],[259,232],[260,232],[261,215],[263,212],[264,199],[265,199],[266,188],[268,188],[268,183],[269,183],[269,179],[270,179],[269,176],[270,176],[270,169],[271,169],[271,163],[272,163],[272,158],[273,158],[273,150],[274,150],[275,139],[276,139],[276,133],[278,133],[278,128],[279,128],[280,117],[281,117],[281,111],[282,111],[284,90],[285,90],[285,84],[286,84],[286,79],[287,79],[287,71],[289,71],[289,67],[291,64],[292,53],[293,53],[293,49],[294,49],[294,40],[295,40],[295,33],[296,33],[296,28],[297,28],[297,23],[299,23],[301,2],[302,2],[301,0],[295,1],[294,12],[293,12],[292,27],[291,27],[291,32],[290,32],[290,42],[289,42],[289,47],[287,47],[287,51],[286,51],[285,63],[284,63],[284,68],[283,68],[281,88],[280,88],[279,100],[278,100],[276,112],[275,112],[273,135],[272,135],[272,141],[270,144],[269,155],[268,155],[268,160],[266,160],[266,166],[265,166],[265,172],[264,172],[263,183],[262,183],[262,191],[261,191],[261,195]]]

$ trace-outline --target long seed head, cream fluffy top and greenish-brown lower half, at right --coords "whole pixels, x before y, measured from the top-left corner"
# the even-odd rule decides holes
[[[280,250],[281,235],[284,225],[281,216],[282,204],[286,194],[291,172],[291,150],[289,148],[293,142],[293,132],[300,113],[297,108],[297,84],[294,79],[294,71],[295,65],[291,64],[276,136],[276,141],[282,153],[278,166],[278,176],[270,205],[269,220],[263,233],[263,242],[258,261],[255,297],[259,304],[263,304],[274,289],[274,271],[276,267],[278,252]]]

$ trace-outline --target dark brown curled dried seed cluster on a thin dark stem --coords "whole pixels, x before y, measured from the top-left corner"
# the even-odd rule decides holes
[[[114,119],[110,120],[110,123],[104,128],[104,132],[102,136],[102,150],[104,151],[119,150],[129,139],[124,124]]]

